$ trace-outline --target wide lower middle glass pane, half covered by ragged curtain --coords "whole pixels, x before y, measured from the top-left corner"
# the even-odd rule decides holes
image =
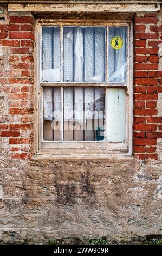
[[[64,88],[64,141],[104,139],[105,88]]]

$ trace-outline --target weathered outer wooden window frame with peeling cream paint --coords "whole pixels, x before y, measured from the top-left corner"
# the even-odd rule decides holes
[[[106,82],[102,83],[61,83],[61,82],[47,82],[41,83],[41,41],[42,41],[42,26],[106,26],[106,36],[108,41],[108,26],[127,26],[128,28],[128,41],[127,41],[127,84],[116,84],[108,82],[108,51],[106,52]],[[74,151],[81,150],[89,151],[89,149],[97,150],[98,152],[101,150],[103,152],[108,152],[109,150],[117,150],[118,152],[124,151],[125,153],[132,153],[132,108],[133,108],[133,92],[132,92],[132,80],[133,80],[133,29],[132,22],[113,22],[108,20],[68,20],[64,19],[61,21],[53,20],[50,22],[40,21],[36,23],[36,51],[35,51],[35,72],[36,72],[36,80],[35,80],[35,100],[36,100],[36,147],[35,153],[41,152],[41,150],[50,150],[52,153],[53,150],[59,149],[74,149]],[[62,40],[62,29],[61,29],[61,40]],[[107,47],[108,48],[108,47]],[[62,58],[62,47],[61,47],[61,58]],[[45,86],[102,86],[106,88],[106,96],[109,87],[125,87],[126,88],[126,102],[125,102],[125,117],[126,117],[126,138],[125,142],[107,142],[107,141],[73,141],[73,142],[58,142],[58,141],[43,141],[43,130],[42,130],[42,120],[43,120],[43,109],[42,109],[42,95],[43,95],[43,87]],[[105,107],[106,108],[106,107]],[[106,121],[106,118],[105,118]],[[106,124],[107,126],[107,124]],[[105,127],[106,127],[105,126]]]

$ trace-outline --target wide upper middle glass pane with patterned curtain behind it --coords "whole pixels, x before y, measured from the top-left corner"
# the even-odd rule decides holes
[[[105,27],[63,27],[63,81],[105,81]]]

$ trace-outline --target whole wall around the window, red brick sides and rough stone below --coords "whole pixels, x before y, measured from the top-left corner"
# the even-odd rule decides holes
[[[162,235],[160,14],[134,17],[134,155],[33,159],[35,19],[0,21],[0,241]]]

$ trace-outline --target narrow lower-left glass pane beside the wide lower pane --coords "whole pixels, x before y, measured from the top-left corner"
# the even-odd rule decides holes
[[[60,141],[61,87],[43,88],[43,138]]]

